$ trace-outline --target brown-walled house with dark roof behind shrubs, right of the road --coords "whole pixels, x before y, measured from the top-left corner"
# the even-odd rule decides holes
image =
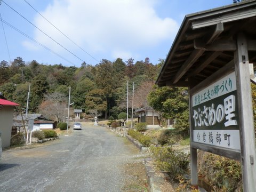
[[[135,110],[138,114],[138,123],[147,123],[147,128],[160,128],[159,113],[152,107],[143,107]]]

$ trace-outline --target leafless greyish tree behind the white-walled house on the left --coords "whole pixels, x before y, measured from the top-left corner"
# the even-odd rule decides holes
[[[65,117],[65,109],[67,108],[67,98],[64,94],[54,92],[46,94],[44,101],[39,107],[39,111],[47,117],[57,122]]]

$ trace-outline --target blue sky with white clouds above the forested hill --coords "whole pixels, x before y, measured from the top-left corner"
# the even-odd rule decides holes
[[[26,2],[83,50],[47,23]],[[0,61],[21,57],[26,62],[36,60],[48,65],[62,63],[63,66],[80,67],[83,61],[96,65],[102,59],[114,61],[119,57],[124,61],[129,58],[138,61],[148,57],[156,64],[159,59],[165,59],[186,14],[232,3],[232,0],[2,0],[0,13],[4,21],[60,57],[5,23],[3,30],[1,22]]]

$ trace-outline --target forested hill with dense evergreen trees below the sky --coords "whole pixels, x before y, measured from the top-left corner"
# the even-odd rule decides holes
[[[135,84],[134,95],[138,97],[135,108],[147,105],[145,94],[153,86],[162,64],[163,60],[153,65],[148,58],[136,62],[118,58],[114,62],[102,59],[96,66],[82,63],[81,67],[65,67],[39,64],[35,60],[25,62],[17,57],[11,63],[3,60],[0,64],[0,92],[25,111],[30,84],[29,113],[43,113],[61,121],[58,113],[50,114],[51,107],[55,105],[65,111],[70,86],[73,108],[116,118],[126,110],[127,81],[130,97],[132,83]]]

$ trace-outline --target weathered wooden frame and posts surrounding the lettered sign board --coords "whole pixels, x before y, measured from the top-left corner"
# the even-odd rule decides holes
[[[203,82],[189,87],[189,122],[190,122],[190,171],[191,185],[198,185],[197,173],[197,149],[207,151],[209,153],[225,156],[235,159],[242,163],[243,190],[254,191],[256,188],[256,149],[255,149],[255,134],[252,111],[252,94],[250,83],[249,55],[247,49],[247,39],[245,34],[237,35],[237,49],[234,51],[234,59],[220,68],[216,73],[206,78]],[[219,79],[225,77],[229,73],[235,71],[236,89],[237,89],[237,108],[238,108],[238,127],[240,137],[239,150],[230,150],[217,146],[204,145],[194,142],[193,127],[191,126],[193,104],[192,95],[205,87],[213,84]],[[193,81],[192,78],[189,79]],[[203,87],[203,88],[202,88]]]

